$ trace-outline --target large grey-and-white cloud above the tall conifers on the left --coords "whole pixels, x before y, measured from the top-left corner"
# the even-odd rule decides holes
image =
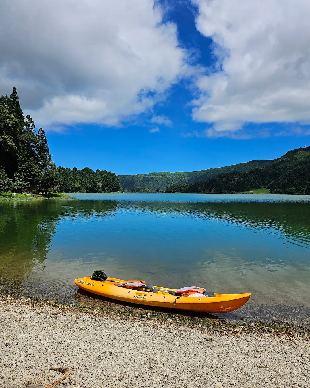
[[[118,125],[187,71],[152,0],[1,2],[0,89],[16,86],[37,125]]]

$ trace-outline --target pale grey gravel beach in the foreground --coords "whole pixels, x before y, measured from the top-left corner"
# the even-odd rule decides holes
[[[0,387],[310,387],[310,343],[0,300]],[[242,332],[241,332],[242,333]]]

